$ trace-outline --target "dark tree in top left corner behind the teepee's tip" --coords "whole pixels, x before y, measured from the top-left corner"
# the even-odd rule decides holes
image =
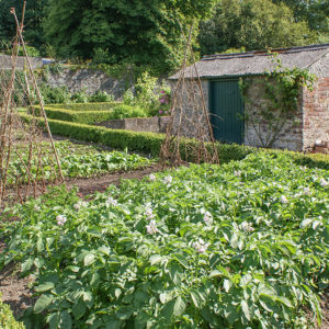
[[[30,46],[39,48],[44,42],[42,21],[44,8],[47,0],[29,0],[26,1],[24,36]],[[15,35],[15,22],[10,9],[15,8],[16,14],[21,18],[23,1],[22,0],[0,0],[0,49],[5,49]]]

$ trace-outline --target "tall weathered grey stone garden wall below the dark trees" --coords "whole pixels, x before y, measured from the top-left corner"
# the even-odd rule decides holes
[[[49,72],[47,84],[50,87],[66,86],[71,93],[84,90],[88,94],[105,91],[115,100],[121,100],[125,92],[125,80],[111,78],[104,72],[90,69],[64,69],[59,73]]]

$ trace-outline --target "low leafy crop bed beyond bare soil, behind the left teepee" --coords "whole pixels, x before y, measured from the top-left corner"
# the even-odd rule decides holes
[[[92,177],[117,170],[136,169],[152,163],[151,160],[138,155],[128,155],[127,152],[121,151],[104,151],[94,146],[77,145],[68,140],[56,141],[55,145],[59,155],[63,173],[67,178]],[[22,150],[19,148],[19,151],[20,157],[16,152],[11,154],[9,183],[14,183],[16,177],[26,177],[29,149],[22,145]],[[38,166],[39,152],[43,168]],[[39,149],[34,149],[31,166],[31,174],[33,178],[39,178],[41,170],[43,170],[46,180],[55,179],[57,164],[55,159],[49,157],[49,152],[52,152],[49,143],[42,143]],[[22,166],[22,160],[25,162],[25,166]]]

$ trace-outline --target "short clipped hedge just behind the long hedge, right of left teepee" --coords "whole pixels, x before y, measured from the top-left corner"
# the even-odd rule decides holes
[[[36,115],[39,115],[39,111],[41,109],[35,106]],[[111,120],[113,116],[111,111],[71,111],[65,109],[52,109],[49,106],[46,106],[45,111],[48,118],[87,125]]]

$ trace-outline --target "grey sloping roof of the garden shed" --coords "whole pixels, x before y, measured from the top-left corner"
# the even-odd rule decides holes
[[[324,57],[329,58],[329,44],[311,45],[305,47],[272,49],[272,54],[277,53],[283,67],[288,68],[314,68],[315,73],[329,76],[329,67],[316,65]],[[325,63],[327,63],[326,60]],[[241,77],[262,75],[265,71],[274,69],[276,63],[268,52],[249,52],[239,54],[219,54],[204,56],[196,64],[200,78],[211,79],[216,77]],[[180,71],[170,77],[179,79]],[[185,69],[185,77],[196,78],[193,66]]]

